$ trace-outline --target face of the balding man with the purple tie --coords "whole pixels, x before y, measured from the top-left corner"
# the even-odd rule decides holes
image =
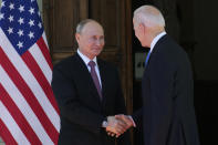
[[[91,60],[97,56],[104,46],[104,31],[96,22],[89,22],[81,33],[76,33],[80,51]]]

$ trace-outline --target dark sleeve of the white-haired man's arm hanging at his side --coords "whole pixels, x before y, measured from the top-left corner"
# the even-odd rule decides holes
[[[150,131],[149,145],[165,145],[173,115],[173,91],[175,68],[167,58],[158,55],[150,61],[150,97],[145,107],[145,120]],[[146,128],[145,128],[146,130]]]

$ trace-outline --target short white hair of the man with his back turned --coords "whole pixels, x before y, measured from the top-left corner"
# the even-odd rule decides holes
[[[136,23],[145,23],[147,27],[165,27],[162,12],[154,6],[142,6],[134,11]]]

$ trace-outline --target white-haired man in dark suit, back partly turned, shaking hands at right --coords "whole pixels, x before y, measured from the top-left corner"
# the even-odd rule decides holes
[[[132,116],[143,128],[144,145],[199,145],[186,52],[166,34],[164,17],[155,7],[135,10],[133,23],[142,45],[150,48],[142,79],[143,108]],[[116,118],[133,126],[129,116]]]

